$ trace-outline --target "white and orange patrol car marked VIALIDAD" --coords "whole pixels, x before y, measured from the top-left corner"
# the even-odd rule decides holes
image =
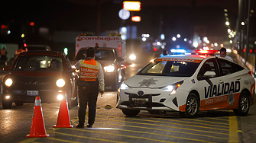
[[[126,116],[141,110],[234,110],[246,116],[254,103],[252,71],[216,56],[164,56],[146,65],[118,89],[116,107]]]

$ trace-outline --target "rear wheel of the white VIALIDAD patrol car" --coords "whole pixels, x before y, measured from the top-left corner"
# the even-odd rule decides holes
[[[236,116],[246,116],[250,110],[250,98],[248,93],[243,91],[238,100],[238,109],[233,110]]]

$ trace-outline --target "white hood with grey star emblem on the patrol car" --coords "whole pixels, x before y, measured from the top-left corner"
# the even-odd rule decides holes
[[[129,87],[165,87],[185,80],[187,77],[134,75],[125,81]]]

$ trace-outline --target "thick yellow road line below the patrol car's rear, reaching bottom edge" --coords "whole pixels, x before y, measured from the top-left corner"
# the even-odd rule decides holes
[[[229,139],[228,142],[238,142],[238,122],[236,116],[229,116]]]

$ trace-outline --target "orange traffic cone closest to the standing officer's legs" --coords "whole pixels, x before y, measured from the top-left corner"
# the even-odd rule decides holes
[[[60,110],[58,114],[57,124],[53,127],[54,128],[73,128],[73,126],[70,126],[70,113],[69,113],[66,100],[61,100],[60,102]]]

